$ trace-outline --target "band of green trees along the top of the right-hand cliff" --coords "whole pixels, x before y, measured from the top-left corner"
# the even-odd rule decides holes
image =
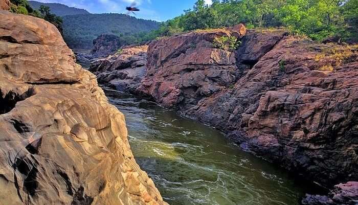
[[[339,35],[358,41],[358,0],[198,0],[193,9],[164,22],[157,34],[170,36],[196,29],[234,26],[285,27],[314,40]]]

